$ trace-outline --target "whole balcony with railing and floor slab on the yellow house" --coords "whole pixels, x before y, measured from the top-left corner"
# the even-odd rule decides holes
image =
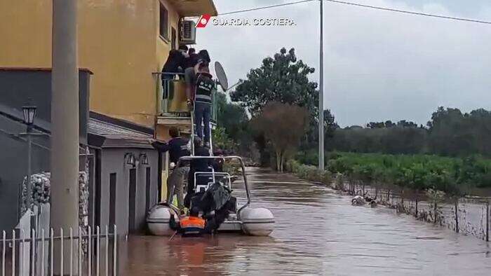
[[[168,81],[161,80],[161,72],[153,73],[156,83],[157,125],[190,126],[191,115],[187,106],[186,83],[183,74],[173,74]],[[217,121],[217,97],[212,95],[211,122]]]

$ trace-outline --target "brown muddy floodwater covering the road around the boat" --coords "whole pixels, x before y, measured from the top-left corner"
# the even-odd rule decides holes
[[[271,237],[130,237],[120,275],[491,275],[490,244],[385,207],[259,169],[253,207],[271,209]],[[241,183],[234,195],[243,198]]]

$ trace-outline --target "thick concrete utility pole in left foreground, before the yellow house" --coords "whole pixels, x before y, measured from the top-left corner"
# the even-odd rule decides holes
[[[51,74],[51,227],[55,235],[79,232],[79,68],[77,65],[77,1],[53,0]],[[69,273],[69,243],[60,265],[55,245],[55,275]],[[74,250],[76,252],[76,250]],[[76,254],[74,255],[76,260]],[[52,256],[53,258],[53,256]],[[74,262],[76,263],[76,262]],[[64,270],[64,271],[61,271]],[[77,271],[76,269],[74,269]]]

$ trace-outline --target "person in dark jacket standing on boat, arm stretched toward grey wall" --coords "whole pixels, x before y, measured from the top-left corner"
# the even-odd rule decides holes
[[[172,139],[168,143],[152,139],[151,144],[161,153],[168,151],[170,163],[177,166],[179,158],[190,155],[187,149],[187,139],[180,137],[177,127],[170,127],[169,134]],[[187,162],[182,162],[179,167],[175,167],[167,179],[167,201],[171,203],[173,195],[177,194],[177,207],[179,209],[184,207],[184,177],[189,174],[187,164]]]

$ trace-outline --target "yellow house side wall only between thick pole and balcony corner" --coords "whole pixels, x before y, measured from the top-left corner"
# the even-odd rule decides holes
[[[79,1],[79,65],[94,73],[92,111],[153,127],[154,2]]]

